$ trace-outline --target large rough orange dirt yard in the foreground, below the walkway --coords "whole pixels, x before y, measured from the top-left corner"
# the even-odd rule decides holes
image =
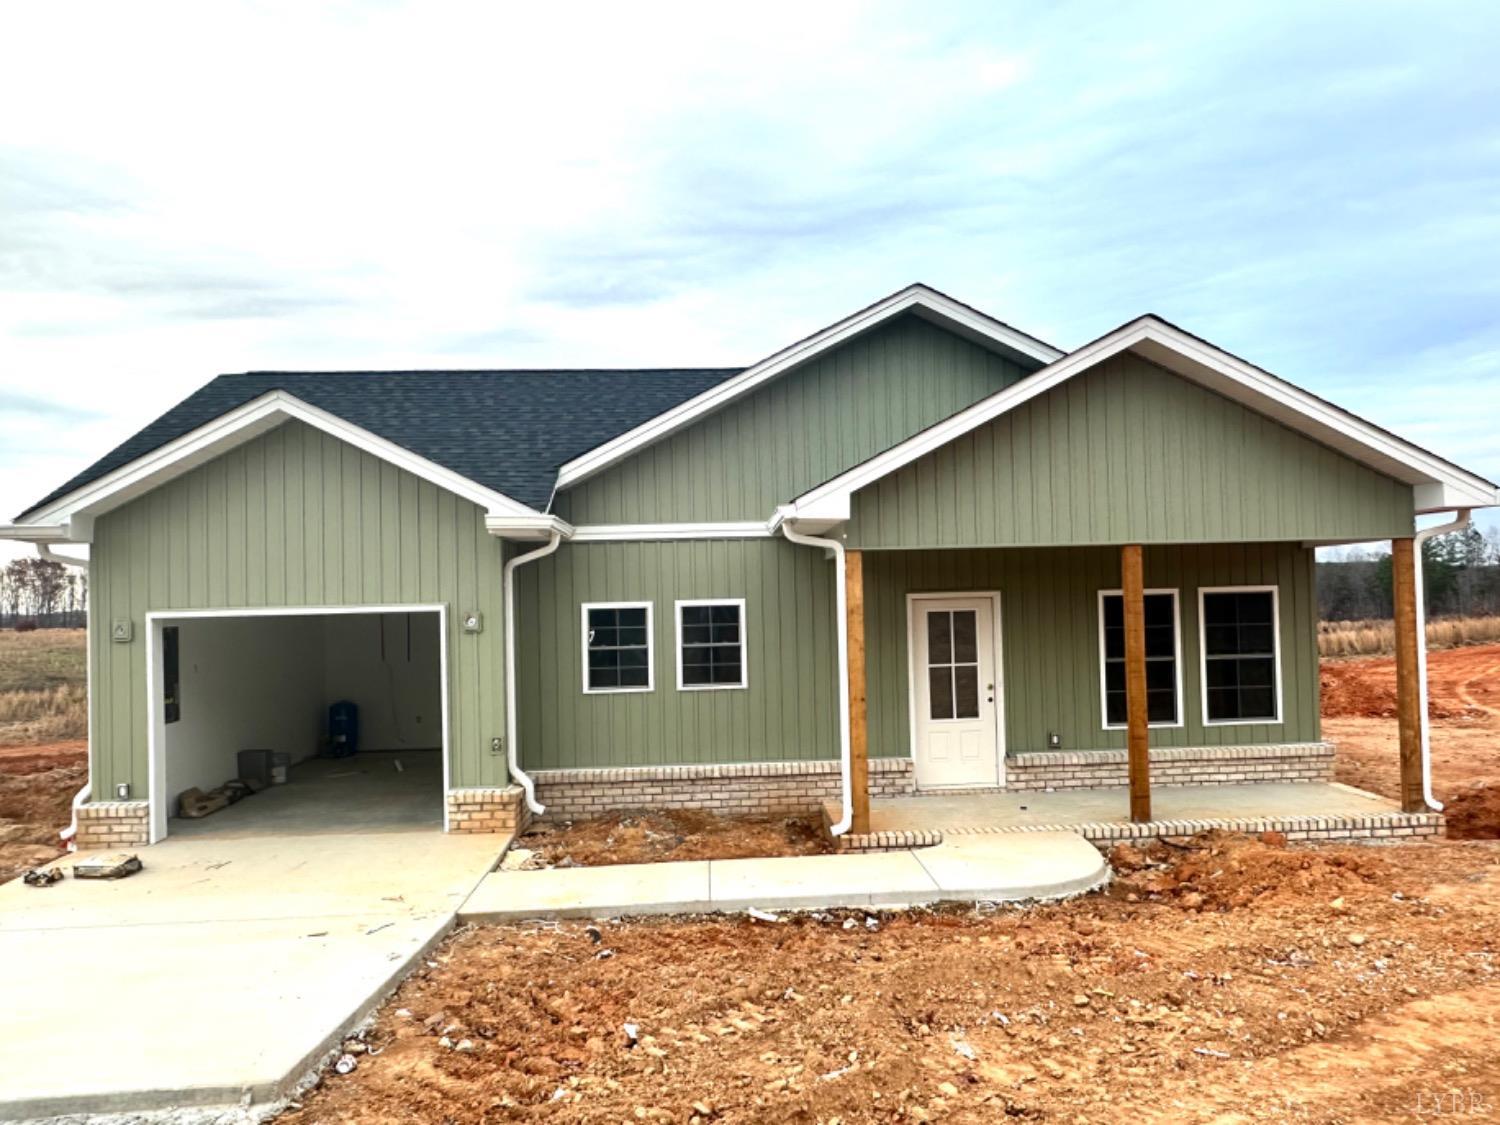
[[[1204,837],[1118,862],[1110,894],[1030,910],[471,928],[282,1120],[1500,1107],[1500,844]]]

